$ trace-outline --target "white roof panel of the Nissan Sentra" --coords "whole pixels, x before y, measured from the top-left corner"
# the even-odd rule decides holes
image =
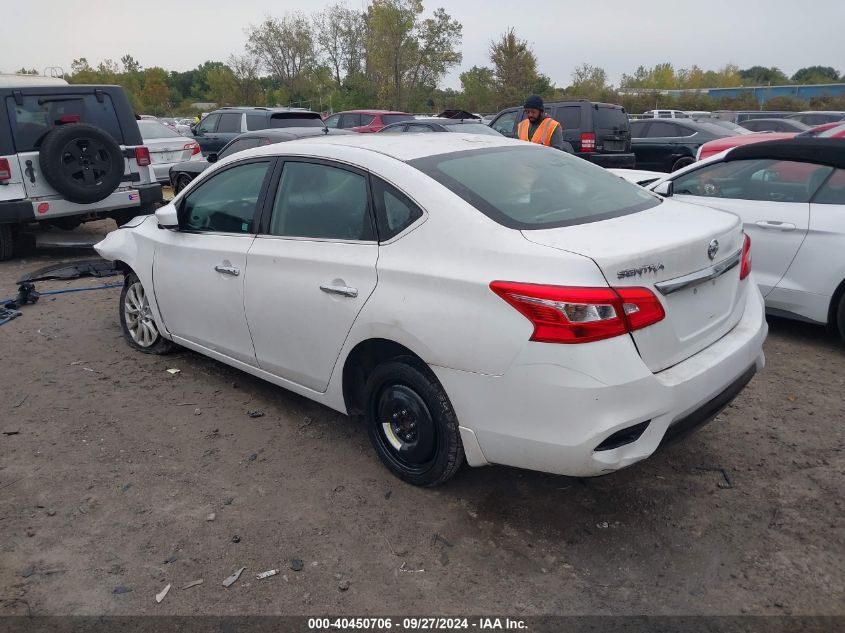
[[[371,151],[397,160],[411,161],[426,156],[449,154],[452,152],[467,152],[477,149],[522,146],[544,148],[536,144],[509,139],[505,136],[486,136],[479,134],[343,134],[337,136],[321,136],[298,139],[280,145],[264,145],[256,149],[246,150],[241,154],[246,156],[264,156],[284,153],[290,148],[300,150],[319,151],[320,147],[333,145],[345,148],[355,148]]]

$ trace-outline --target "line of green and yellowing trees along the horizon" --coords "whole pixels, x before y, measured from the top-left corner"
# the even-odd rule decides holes
[[[749,95],[715,100],[704,95],[661,95],[660,90],[845,81],[827,66],[802,68],[791,77],[779,68],[725,65],[716,70],[671,63],[640,66],[612,85],[603,68],[579,65],[566,86],[538,70],[531,44],[511,28],[489,43],[489,65],[460,74],[460,90],[439,87],[462,61],[463,27],[445,9],[424,17],[422,0],[371,0],[356,10],[338,3],[312,14],[268,16],[246,30],[244,49],[225,61],[207,61],[184,72],[143,68],[124,55],[92,65],[74,59],[71,83],[122,85],[138,112],[194,114],[197,102],[218,105],[292,105],[320,111],[390,108],[432,112],[458,107],[495,112],[527,94],[547,99],[587,98],[621,103],[631,112],[646,109],[756,109]],[[21,69],[18,72],[34,72]],[[845,109],[845,101],[772,99],[767,109]]]

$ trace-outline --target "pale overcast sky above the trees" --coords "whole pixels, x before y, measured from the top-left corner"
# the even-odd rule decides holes
[[[444,6],[464,27],[461,69],[444,85],[458,88],[462,69],[489,63],[492,38],[513,26],[534,47],[540,71],[560,86],[582,62],[603,67],[614,84],[640,64],[671,62],[715,69],[725,63],[804,66],[845,71],[845,0],[424,0]],[[74,58],[92,65],[125,53],[142,66],[188,70],[240,53],[244,29],[269,12],[306,12],[320,0],[40,0],[11,2],[0,21],[0,71],[21,66],[70,70]],[[363,7],[361,0],[349,6]]]

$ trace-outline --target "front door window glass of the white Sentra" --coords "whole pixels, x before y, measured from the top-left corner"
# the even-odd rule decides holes
[[[203,181],[182,201],[179,227],[186,231],[253,233],[269,167],[270,161],[244,163]]]

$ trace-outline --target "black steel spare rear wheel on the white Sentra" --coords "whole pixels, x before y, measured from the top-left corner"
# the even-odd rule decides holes
[[[449,480],[464,460],[458,420],[443,387],[414,358],[377,366],[365,387],[367,432],[379,458],[416,486]]]

